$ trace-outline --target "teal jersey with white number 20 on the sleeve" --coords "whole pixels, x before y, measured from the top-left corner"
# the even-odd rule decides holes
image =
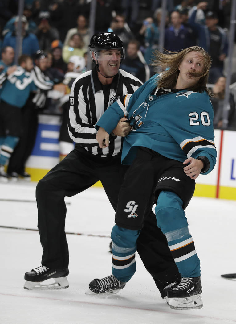
[[[206,156],[210,167],[216,163],[213,108],[206,92],[186,90],[156,96],[158,75],[154,75],[134,94],[118,99],[96,123],[111,133],[122,117],[130,121],[131,132],[124,137],[122,163],[131,164],[138,146],[184,162],[186,158]],[[156,88],[156,92],[155,91]]]

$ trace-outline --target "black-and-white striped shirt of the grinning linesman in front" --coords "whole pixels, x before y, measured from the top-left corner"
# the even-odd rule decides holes
[[[98,80],[95,67],[80,75],[71,87],[69,98],[68,129],[72,140],[96,156],[117,155],[121,151],[122,138],[113,136],[108,147],[99,148],[95,124],[113,102],[134,93],[141,85],[139,79],[121,69],[112,84],[105,86]]]

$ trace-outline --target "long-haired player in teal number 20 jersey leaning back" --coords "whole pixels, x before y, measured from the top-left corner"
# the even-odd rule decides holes
[[[167,292],[169,306],[201,308],[200,261],[184,209],[194,193],[195,179],[208,174],[216,163],[213,109],[206,87],[210,56],[193,46],[169,55],[157,53],[156,66],[169,69],[154,75],[133,95],[118,99],[96,124],[100,148],[109,148],[114,125],[122,116],[129,119],[131,132],[124,138],[122,163],[131,166],[119,193],[111,234],[113,274],[94,279],[89,286],[104,293],[121,289],[130,280],[136,269],[136,241],[155,202],[157,226],[182,277]]]

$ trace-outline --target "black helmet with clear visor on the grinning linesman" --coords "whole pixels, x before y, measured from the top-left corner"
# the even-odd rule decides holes
[[[92,56],[92,52],[94,52],[94,54],[96,56],[97,52],[102,51],[102,50],[119,49],[119,50],[121,50],[121,59],[124,59],[124,57],[125,57],[123,42],[113,32],[94,34],[91,37],[91,40],[89,43],[89,49],[91,52],[91,56]]]

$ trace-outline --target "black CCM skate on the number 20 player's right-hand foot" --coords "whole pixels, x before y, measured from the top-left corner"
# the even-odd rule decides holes
[[[167,292],[169,307],[173,309],[202,308],[201,293],[200,277],[182,278],[176,287]]]

